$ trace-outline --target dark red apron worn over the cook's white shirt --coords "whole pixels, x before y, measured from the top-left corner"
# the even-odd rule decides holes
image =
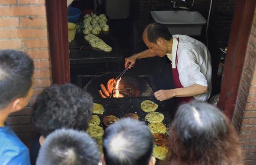
[[[173,61],[173,62],[176,62],[176,68],[173,69],[172,68],[172,71],[173,71],[173,85],[174,85],[174,88],[183,88],[183,86],[181,85],[180,81],[179,81],[179,72],[178,72],[178,57],[177,57],[177,52],[178,52],[178,47],[179,47],[179,38],[177,38],[177,41],[178,41],[178,45],[177,45],[177,51],[176,51],[176,61]],[[187,102],[190,102],[192,100],[194,100],[193,97],[177,97],[176,100],[178,101],[178,105],[182,104],[182,103],[187,103]]]

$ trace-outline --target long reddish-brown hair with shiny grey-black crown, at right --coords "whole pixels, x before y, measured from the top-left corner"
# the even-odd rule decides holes
[[[237,133],[218,108],[194,101],[179,107],[162,165],[238,165]]]

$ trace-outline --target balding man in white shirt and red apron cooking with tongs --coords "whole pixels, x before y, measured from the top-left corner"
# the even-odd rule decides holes
[[[165,25],[158,23],[147,25],[143,41],[148,49],[125,58],[125,68],[131,68],[137,59],[167,55],[172,62],[175,89],[154,92],[157,100],[178,97],[179,102],[189,102],[210,97],[211,57],[205,44],[186,35],[171,35]]]

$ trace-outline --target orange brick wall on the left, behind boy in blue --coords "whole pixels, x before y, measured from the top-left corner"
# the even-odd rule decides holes
[[[51,85],[45,0],[0,0],[0,22],[0,49],[25,51],[34,60],[34,94],[29,105],[7,119],[20,139],[31,146],[36,135],[31,106],[43,88]]]

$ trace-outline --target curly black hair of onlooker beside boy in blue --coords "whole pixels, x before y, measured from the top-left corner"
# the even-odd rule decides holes
[[[74,84],[44,89],[32,111],[32,122],[42,136],[60,128],[86,130],[93,113],[93,98]]]

